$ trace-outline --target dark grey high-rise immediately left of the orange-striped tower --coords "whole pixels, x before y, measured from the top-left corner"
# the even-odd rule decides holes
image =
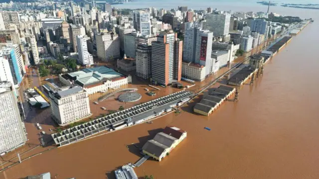
[[[141,44],[136,48],[136,75],[143,79],[151,78],[152,46]]]

